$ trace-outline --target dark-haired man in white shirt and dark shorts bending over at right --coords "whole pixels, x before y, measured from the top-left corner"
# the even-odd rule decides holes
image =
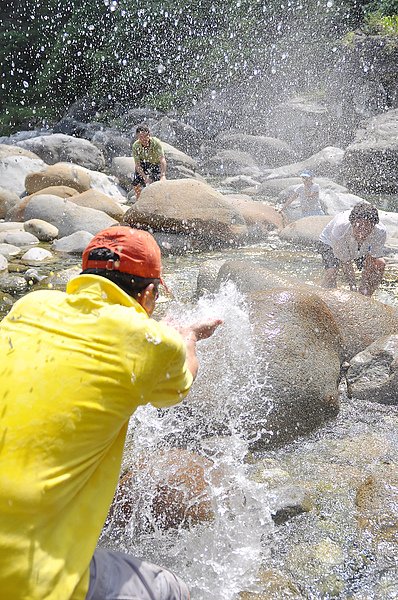
[[[377,208],[370,204],[356,204],[351,211],[336,215],[326,225],[318,242],[325,267],[324,287],[337,286],[337,273],[341,267],[350,290],[371,296],[383,278],[386,237],[386,228],[379,223]],[[362,271],[359,287],[354,265]]]

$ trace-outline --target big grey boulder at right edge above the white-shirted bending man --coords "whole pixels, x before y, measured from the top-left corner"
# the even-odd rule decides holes
[[[370,119],[343,157],[346,185],[357,192],[398,192],[398,109]]]

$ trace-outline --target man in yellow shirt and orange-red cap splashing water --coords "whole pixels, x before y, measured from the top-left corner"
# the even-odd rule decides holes
[[[151,318],[160,250],[116,226],[83,253],[66,293],[35,291],[0,325],[0,597],[187,600],[169,571],[96,550],[130,416],[167,407],[196,376],[196,342],[220,320],[177,331]]]

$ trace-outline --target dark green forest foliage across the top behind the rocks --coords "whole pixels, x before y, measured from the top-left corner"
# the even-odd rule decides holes
[[[378,27],[396,27],[392,0]],[[358,0],[8,0],[0,8],[3,133],[58,119],[75,100],[189,106],[203,90],[275,71],[311,87],[336,40],[363,24]],[[374,12],[374,11],[373,11]],[[371,17],[368,17],[371,19]],[[390,19],[390,20],[385,20]],[[304,74],[304,76],[303,76]],[[30,107],[30,108],[29,108]],[[25,120],[24,120],[25,119]],[[4,128],[7,129],[4,129]]]

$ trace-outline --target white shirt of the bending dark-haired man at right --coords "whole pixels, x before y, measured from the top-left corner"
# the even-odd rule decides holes
[[[319,239],[332,247],[333,254],[342,262],[349,262],[369,254],[373,258],[381,258],[385,254],[384,244],[387,231],[384,225],[378,223],[361,243],[354,238],[352,225],[349,221],[351,210],[339,213],[328,223]]]

